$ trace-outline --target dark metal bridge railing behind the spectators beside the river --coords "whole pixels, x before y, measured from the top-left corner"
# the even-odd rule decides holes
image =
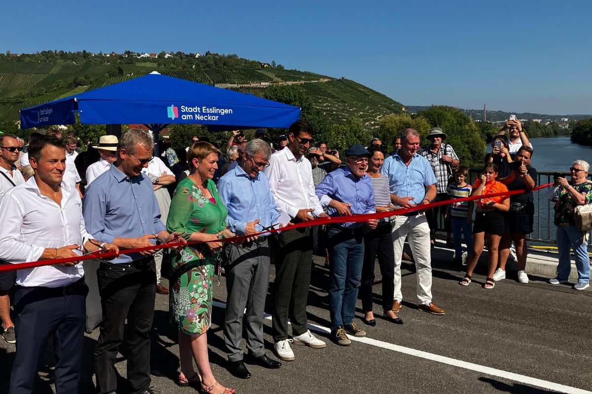
[[[483,172],[482,168],[469,169],[468,183],[473,184],[479,175]],[[544,185],[553,182],[554,172],[538,172],[537,185]],[[590,175],[592,178],[592,175]],[[546,188],[533,192],[535,197],[535,217],[533,223],[533,232],[527,240],[531,243],[544,243],[555,245],[555,224],[553,219],[555,210],[554,203],[545,197]],[[439,218],[442,220],[442,218]],[[441,226],[440,226],[441,227]],[[592,245],[592,231],[588,233],[588,248]]]

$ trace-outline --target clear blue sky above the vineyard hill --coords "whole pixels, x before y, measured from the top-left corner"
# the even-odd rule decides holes
[[[592,1],[5,2],[0,51],[237,54],[405,105],[592,113]]]

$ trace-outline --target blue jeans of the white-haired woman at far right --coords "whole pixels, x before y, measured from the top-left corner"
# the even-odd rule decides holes
[[[558,279],[564,281],[570,277],[570,248],[573,246],[575,268],[578,270],[578,283],[590,282],[590,258],[588,258],[587,245],[582,242],[582,238],[582,232],[576,229],[575,226],[557,226],[557,248],[559,249]]]

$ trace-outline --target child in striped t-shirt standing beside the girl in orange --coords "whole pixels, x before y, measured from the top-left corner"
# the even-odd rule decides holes
[[[455,198],[464,198],[471,196],[472,186],[465,182],[469,175],[469,169],[464,165],[456,168],[454,173],[455,183],[448,185],[446,193],[454,200]],[[454,258],[452,265],[462,265],[462,236],[465,239],[466,248],[471,249],[473,237],[471,233],[471,224],[473,223],[473,204],[469,201],[460,201],[449,204],[446,208],[445,219],[451,219],[452,235],[454,238]]]

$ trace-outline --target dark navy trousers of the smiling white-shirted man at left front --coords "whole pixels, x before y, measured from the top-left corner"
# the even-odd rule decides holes
[[[37,365],[53,335],[58,394],[78,394],[86,318],[84,279],[69,288],[17,286],[14,296],[17,356],[12,364],[11,394],[33,393]]]

